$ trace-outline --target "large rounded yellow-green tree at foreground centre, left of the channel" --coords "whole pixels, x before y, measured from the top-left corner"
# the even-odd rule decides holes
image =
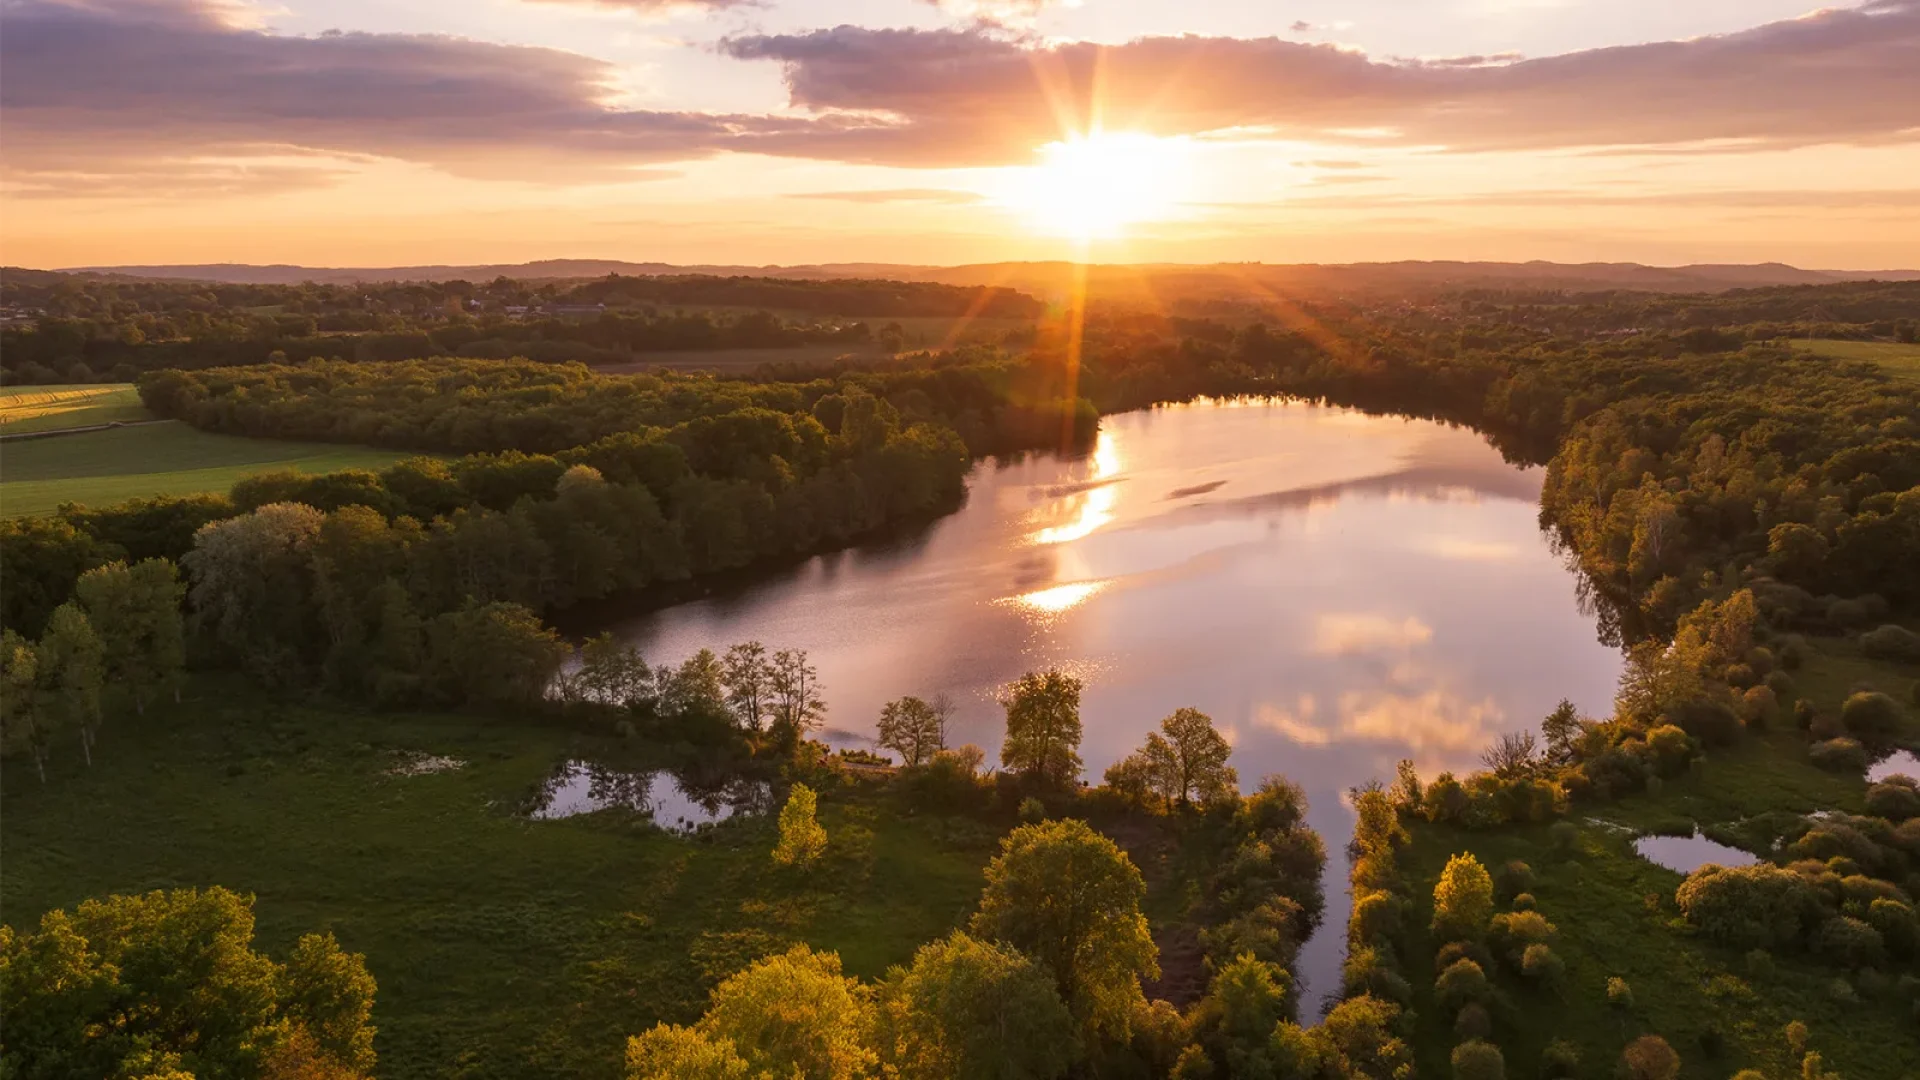
[[[970,932],[1039,961],[1083,1030],[1125,1040],[1140,978],[1160,972],[1144,894],[1133,859],[1085,821],[1023,824],[987,867]]]

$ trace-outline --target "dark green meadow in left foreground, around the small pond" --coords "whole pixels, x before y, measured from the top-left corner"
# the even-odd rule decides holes
[[[403,776],[405,753],[463,767]],[[718,978],[791,942],[877,976],[964,920],[1000,830],[829,792],[828,865],[776,872],[770,819],[701,838],[620,811],[530,821],[574,757],[647,767],[636,746],[457,715],[290,707],[238,678],[109,721],[94,767],[42,788],[6,763],[0,917],[156,888],[257,894],[280,955],[332,930],[378,980],[378,1074],[614,1078],[624,1036],[699,1017]]]

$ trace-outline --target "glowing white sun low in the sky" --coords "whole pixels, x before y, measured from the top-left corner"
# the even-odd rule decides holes
[[[1035,165],[1006,169],[996,202],[1044,233],[1110,240],[1179,206],[1185,138],[1098,133],[1048,142],[1039,156]]]

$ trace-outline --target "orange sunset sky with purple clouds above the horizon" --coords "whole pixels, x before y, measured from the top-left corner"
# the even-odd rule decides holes
[[[0,261],[1920,263],[1920,0],[0,0]]]

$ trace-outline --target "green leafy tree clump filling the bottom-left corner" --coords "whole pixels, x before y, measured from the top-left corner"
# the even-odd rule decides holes
[[[252,901],[223,888],[88,899],[35,932],[0,928],[19,1076],[346,1080],[374,1067],[372,994],[365,959],[330,936],[301,938],[284,965],[253,951]]]

